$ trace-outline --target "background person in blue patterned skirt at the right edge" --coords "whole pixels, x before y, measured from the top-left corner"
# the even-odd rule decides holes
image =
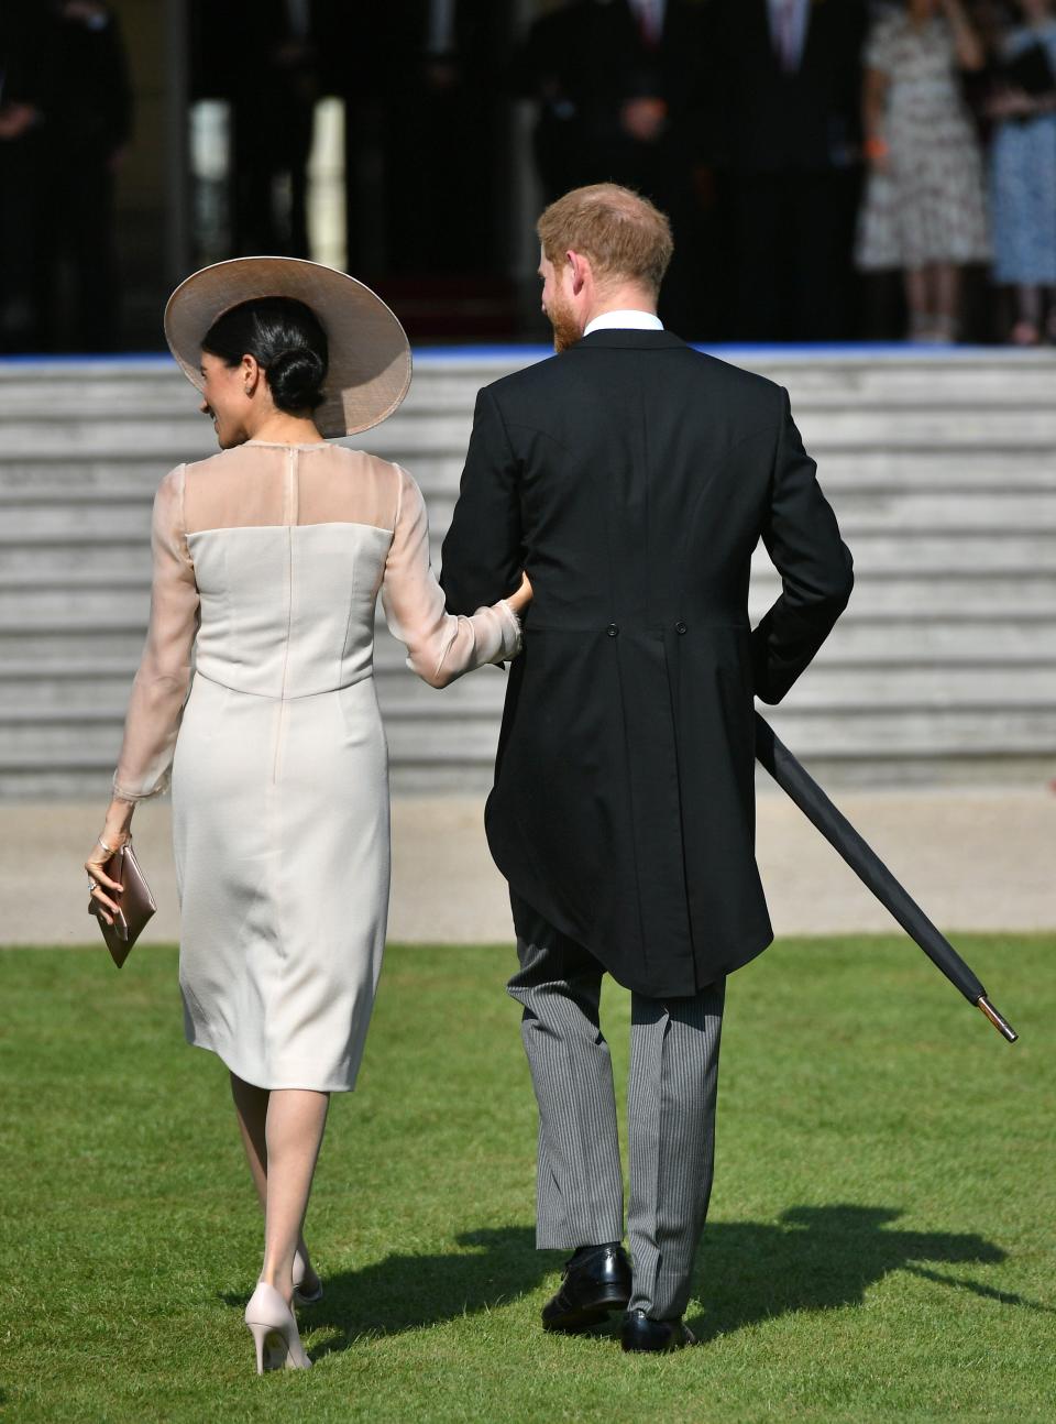
[[[1052,0],[1018,0],[1019,24],[1000,41],[1003,78],[988,104],[993,278],[1015,288],[1010,340],[1035,346],[1045,330],[1056,340],[1056,17]],[[1025,88],[1016,68],[1040,61],[1040,78]],[[1047,66],[1050,85],[1043,87]]]

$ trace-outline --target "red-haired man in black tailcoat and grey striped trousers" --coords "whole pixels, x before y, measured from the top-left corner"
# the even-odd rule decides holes
[[[481,390],[444,541],[448,608],[534,601],[485,820],[509,881],[539,1104],[544,1324],[628,1307],[675,1349],[710,1189],[726,975],[770,943],[754,860],[753,693],[777,702],[851,591],[851,557],[778,386],[660,328],[670,231],[609,184],[539,219],[559,355]],[[763,538],[783,592],[751,632]],[[598,1028],[633,991],[630,1200]]]

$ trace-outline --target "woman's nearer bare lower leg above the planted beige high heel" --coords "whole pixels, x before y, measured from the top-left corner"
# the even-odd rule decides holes
[[[273,1088],[268,1096],[268,1200],[260,1280],[275,1286],[287,1303],[293,1299],[293,1255],[302,1239],[329,1104],[329,1094],[306,1088]]]

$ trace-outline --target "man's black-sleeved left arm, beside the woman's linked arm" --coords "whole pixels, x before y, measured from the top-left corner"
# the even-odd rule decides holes
[[[521,584],[519,464],[495,397],[477,396],[458,503],[441,553],[440,585],[453,614],[508,598]]]

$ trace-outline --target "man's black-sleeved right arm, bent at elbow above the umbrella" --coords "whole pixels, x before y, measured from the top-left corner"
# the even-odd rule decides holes
[[[781,595],[751,634],[756,696],[780,702],[833,631],[851,597],[851,551],[817,483],[784,392],[763,543]]]

